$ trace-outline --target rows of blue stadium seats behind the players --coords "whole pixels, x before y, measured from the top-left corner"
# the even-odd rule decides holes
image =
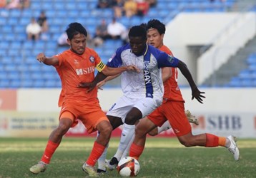
[[[152,18],[164,22],[171,21],[181,11],[227,11],[234,3],[235,0],[215,1],[214,3],[205,0],[158,0],[157,6],[149,9],[147,16],[133,16],[131,19],[122,17],[119,21],[129,28],[129,26]],[[96,6],[97,0],[72,2],[69,0],[31,0],[28,9],[0,9],[0,38],[2,39],[0,42],[0,88],[60,88],[59,76],[54,68],[38,63],[35,56],[39,52],[52,56],[67,49],[58,47],[56,40],[70,22],[82,23],[89,34],[94,36],[95,28],[101,19],[104,18],[109,23],[113,16],[111,8],[97,9]],[[32,16],[38,17],[41,10],[45,11],[48,18],[49,39],[27,41],[26,25]],[[96,51],[106,62],[115,49],[121,45],[122,41],[107,40],[102,46],[97,47]],[[253,80],[256,81],[256,72],[253,70],[256,70],[255,60],[256,58],[250,58],[250,60],[248,58],[250,72],[245,71],[241,74],[244,75],[242,78],[241,75],[237,76],[230,82],[230,86],[236,86],[235,82],[243,80],[247,74],[252,75]],[[247,80],[244,83],[248,85]]]

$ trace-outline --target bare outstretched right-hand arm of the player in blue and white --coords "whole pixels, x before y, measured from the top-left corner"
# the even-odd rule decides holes
[[[198,88],[197,85],[195,84],[195,81],[192,78],[191,73],[189,72],[189,69],[187,68],[187,65],[183,63],[182,61],[179,61],[177,68],[182,72],[184,77],[187,79],[189,82],[190,88],[192,90],[192,100],[197,99],[199,103],[202,103],[202,98],[205,98],[204,95],[205,92],[201,92]]]

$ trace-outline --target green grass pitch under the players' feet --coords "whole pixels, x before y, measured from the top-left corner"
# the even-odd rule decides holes
[[[41,158],[44,138],[0,138],[0,178],[85,177],[82,164],[92,150],[94,138],[64,137],[46,172],[32,174],[29,168]],[[112,138],[108,159],[117,150],[119,138]],[[184,147],[177,138],[148,138],[139,159],[137,177],[255,177],[256,140],[238,140],[240,161],[223,147]],[[104,177],[119,177],[117,171]]]

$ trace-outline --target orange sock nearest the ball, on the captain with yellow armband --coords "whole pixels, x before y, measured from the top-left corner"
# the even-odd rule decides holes
[[[87,164],[94,167],[94,165],[96,164],[97,160],[102,155],[104,150],[105,150],[105,147],[103,145],[100,145],[99,143],[94,142],[94,147],[92,147],[92,152],[87,159]]]

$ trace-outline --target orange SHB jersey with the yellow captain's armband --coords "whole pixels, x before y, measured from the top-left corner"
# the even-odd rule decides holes
[[[81,82],[89,83],[94,80],[94,70],[102,71],[105,67],[98,54],[91,48],[86,48],[82,55],[70,49],[55,56],[59,65],[55,66],[61,78],[62,90],[59,96],[59,106],[67,100],[78,103],[94,102],[97,99],[97,88],[87,93],[86,88],[78,88]]]

